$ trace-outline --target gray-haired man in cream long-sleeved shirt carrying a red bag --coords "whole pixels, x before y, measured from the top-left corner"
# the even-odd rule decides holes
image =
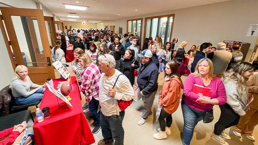
[[[115,67],[114,56],[110,54],[99,56],[99,69],[102,72],[99,81],[100,123],[104,139],[101,139],[98,145],[113,142],[113,139],[115,139],[115,145],[124,144],[125,132],[122,122],[125,111],[119,108],[117,101],[130,101],[134,93],[129,79]]]

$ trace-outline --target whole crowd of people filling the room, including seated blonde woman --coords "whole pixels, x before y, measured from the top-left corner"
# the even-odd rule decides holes
[[[66,37],[62,34],[60,38],[55,40],[56,45],[51,54],[53,62],[59,60],[66,68]],[[148,116],[154,114],[153,103],[162,107],[158,119],[159,132],[153,134],[155,139],[166,139],[171,134],[172,114],[181,104],[185,145],[190,144],[197,123],[204,120],[207,113],[213,114],[214,105],[220,107],[221,114],[214,126],[212,139],[227,145],[225,139],[231,137],[224,130],[231,127],[236,136],[240,137],[242,133],[248,139],[255,140],[252,131],[258,124],[258,69],[243,62],[243,53],[238,43],[233,45],[232,52],[226,51],[225,43],[212,47],[211,43],[205,42],[197,47],[192,45],[186,53],[186,41],[182,41],[176,48],[177,38],[163,45],[159,35],[154,40],[151,37],[145,38],[140,47],[137,32],[135,35],[128,33],[121,36],[106,29],[81,29],[69,31],[68,38],[74,46],[75,65],[72,65],[72,70],[80,91],[86,97],[86,103],[82,107],[88,106],[83,112],[92,114],[89,117],[95,122],[92,133],[95,134],[100,129],[102,131],[104,139],[98,142],[99,145],[113,140],[115,145],[123,145],[125,131],[122,122],[125,111],[121,110],[118,102],[134,98],[133,85],[140,89],[144,108],[138,125],[144,124]],[[193,56],[194,60],[191,74],[183,83],[181,76],[188,69],[183,63],[186,55]],[[138,71],[136,75],[135,70]],[[163,84],[159,84],[162,85],[159,101],[154,102],[158,91],[157,80],[162,71],[165,76]],[[17,66],[10,85],[18,104],[41,100],[44,93],[45,85],[32,83],[27,74],[27,67]],[[209,95],[194,93],[196,85],[210,88]],[[30,90],[30,87],[36,89]],[[183,94],[180,103],[181,89]],[[250,94],[254,101],[248,105]],[[101,111],[98,112],[99,107]]]

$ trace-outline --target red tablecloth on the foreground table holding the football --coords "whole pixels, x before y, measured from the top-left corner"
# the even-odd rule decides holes
[[[64,79],[54,79],[54,88],[58,82]],[[95,142],[90,126],[82,112],[80,92],[76,77],[71,77],[72,89],[70,103],[67,105],[58,98],[60,110],[58,110],[57,97],[47,88],[43,95],[40,109],[50,107],[50,117],[44,118],[38,123],[37,118],[33,125],[34,136],[37,145],[86,145]]]

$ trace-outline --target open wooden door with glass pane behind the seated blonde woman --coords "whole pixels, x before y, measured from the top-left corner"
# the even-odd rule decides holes
[[[9,56],[14,55],[13,66],[27,66],[28,75],[36,84],[43,84],[48,77],[55,78],[43,11],[12,7],[0,10],[1,26],[5,26],[10,40]]]

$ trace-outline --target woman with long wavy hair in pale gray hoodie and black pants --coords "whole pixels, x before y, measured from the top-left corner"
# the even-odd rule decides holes
[[[253,75],[253,70],[252,64],[238,62],[222,77],[226,89],[227,101],[226,104],[219,106],[221,110],[220,118],[214,126],[214,133],[211,135],[211,138],[220,144],[228,144],[221,138],[231,139],[224,130],[237,125],[240,116],[244,116],[249,109],[249,106],[247,106],[249,102],[247,80]]]

